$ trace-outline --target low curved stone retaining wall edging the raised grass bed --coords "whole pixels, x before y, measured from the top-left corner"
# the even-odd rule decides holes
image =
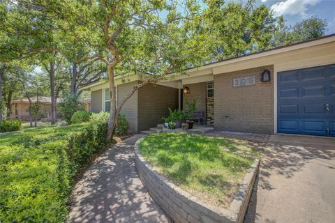
[[[158,203],[165,213],[176,223],[232,223],[243,222],[248,201],[253,190],[253,183],[259,167],[259,160],[255,160],[248,170],[243,183],[239,188],[229,208],[217,208],[209,206],[200,199],[184,192],[179,187],[170,183],[167,178],[161,176],[144,160],[138,151],[139,139],[135,144],[135,165],[144,187],[151,197]]]

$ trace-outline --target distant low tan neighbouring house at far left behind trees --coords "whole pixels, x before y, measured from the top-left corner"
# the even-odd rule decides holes
[[[37,98],[31,98],[31,102],[37,102]],[[38,119],[46,118],[50,120],[51,116],[51,98],[50,97],[38,97],[38,102],[40,102],[40,110],[38,114]],[[59,100],[57,100],[59,102]],[[10,118],[12,119],[29,119],[29,100],[28,98],[22,98],[20,100],[13,100],[11,102],[11,113]]]

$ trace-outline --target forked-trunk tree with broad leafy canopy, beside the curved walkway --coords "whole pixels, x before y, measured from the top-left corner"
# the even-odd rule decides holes
[[[204,35],[191,29],[199,20],[199,6],[193,1],[180,6],[183,13],[178,13],[174,1],[22,0],[13,7],[19,6],[23,13],[29,12],[28,18],[34,17],[36,25],[41,24],[33,29],[38,38],[29,38],[39,41],[31,52],[51,49],[68,55],[80,45],[89,49],[89,55],[75,59],[75,63],[98,59],[105,64],[111,98],[109,139],[122,105],[137,89],[172,72],[183,72],[196,65],[202,54]],[[47,38],[41,39],[40,32],[46,32]],[[142,75],[142,82],[117,106],[114,78],[126,74]]]

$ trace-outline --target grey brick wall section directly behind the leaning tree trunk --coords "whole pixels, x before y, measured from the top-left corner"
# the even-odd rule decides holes
[[[117,86],[117,103],[119,104],[121,100],[128,95],[128,93],[133,89],[133,86],[137,84],[137,82],[129,82],[126,84],[119,84]],[[127,121],[130,124],[130,128],[128,132],[137,132],[138,124],[137,124],[137,106],[138,106],[138,91],[136,91],[131,98],[129,98],[121,109],[121,114],[126,116]]]

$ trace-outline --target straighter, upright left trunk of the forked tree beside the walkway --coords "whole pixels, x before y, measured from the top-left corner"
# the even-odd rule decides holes
[[[114,67],[109,64],[107,67],[108,79],[110,80],[110,120],[108,121],[107,140],[112,140],[113,130],[117,118],[117,102],[115,98]]]

